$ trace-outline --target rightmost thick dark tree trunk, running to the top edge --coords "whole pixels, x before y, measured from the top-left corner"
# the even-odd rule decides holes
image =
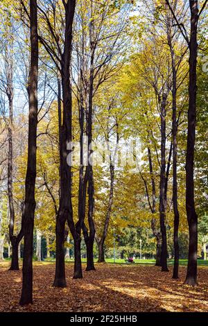
[[[185,284],[197,284],[198,255],[198,216],[194,202],[194,147],[196,134],[196,66],[197,66],[197,31],[198,31],[198,1],[189,0],[191,10],[191,36],[189,42],[189,111],[186,156],[186,209],[189,223],[189,262]]]

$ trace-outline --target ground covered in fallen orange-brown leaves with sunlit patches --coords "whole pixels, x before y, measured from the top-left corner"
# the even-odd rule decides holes
[[[0,262],[0,311],[208,311],[208,268],[198,268],[199,285],[184,285],[187,268],[180,267],[180,280],[172,280],[172,267],[162,273],[155,266],[96,264],[96,271],[83,272],[73,280],[73,266],[66,265],[67,288],[52,286],[55,264],[34,262],[33,304],[20,307],[21,271],[8,271]],[[83,264],[83,269],[84,269]]]

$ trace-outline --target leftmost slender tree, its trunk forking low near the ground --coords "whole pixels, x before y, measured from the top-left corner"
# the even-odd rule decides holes
[[[13,8],[5,6],[5,11],[1,15],[2,23],[4,24],[4,41],[3,41],[3,71],[1,74],[1,92],[6,94],[8,98],[8,117],[6,112],[3,114],[6,126],[8,128],[8,203],[10,211],[9,223],[9,239],[12,244],[12,261],[10,271],[19,270],[18,263],[18,246],[19,241],[23,237],[23,232],[15,235],[15,207],[13,199],[13,99],[14,99],[14,74],[15,74],[15,39],[13,36],[15,30],[15,19]]]

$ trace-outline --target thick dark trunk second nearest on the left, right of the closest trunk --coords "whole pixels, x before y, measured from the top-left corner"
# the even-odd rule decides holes
[[[76,0],[64,2],[65,13],[65,32],[64,32],[64,51],[61,59],[61,78],[62,78],[62,98],[63,98],[63,118],[60,133],[60,207],[56,218],[56,259],[55,259],[55,279],[53,286],[67,286],[64,264],[64,236],[65,224],[68,220],[71,234],[75,237],[73,223],[73,210],[71,203],[71,164],[67,164],[67,155],[70,155],[72,148],[69,148],[72,141],[72,100],[70,83],[71,65],[71,42],[72,25]]]

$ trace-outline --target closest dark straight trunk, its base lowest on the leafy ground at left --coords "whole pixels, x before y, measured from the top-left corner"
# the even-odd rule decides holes
[[[25,181],[25,201],[22,212],[24,224],[24,255],[20,304],[33,303],[33,228],[35,216],[35,178],[37,152],[37,74],[38,36],[37,0],[30,1],[31,70],[29,77],[28,162]]]

